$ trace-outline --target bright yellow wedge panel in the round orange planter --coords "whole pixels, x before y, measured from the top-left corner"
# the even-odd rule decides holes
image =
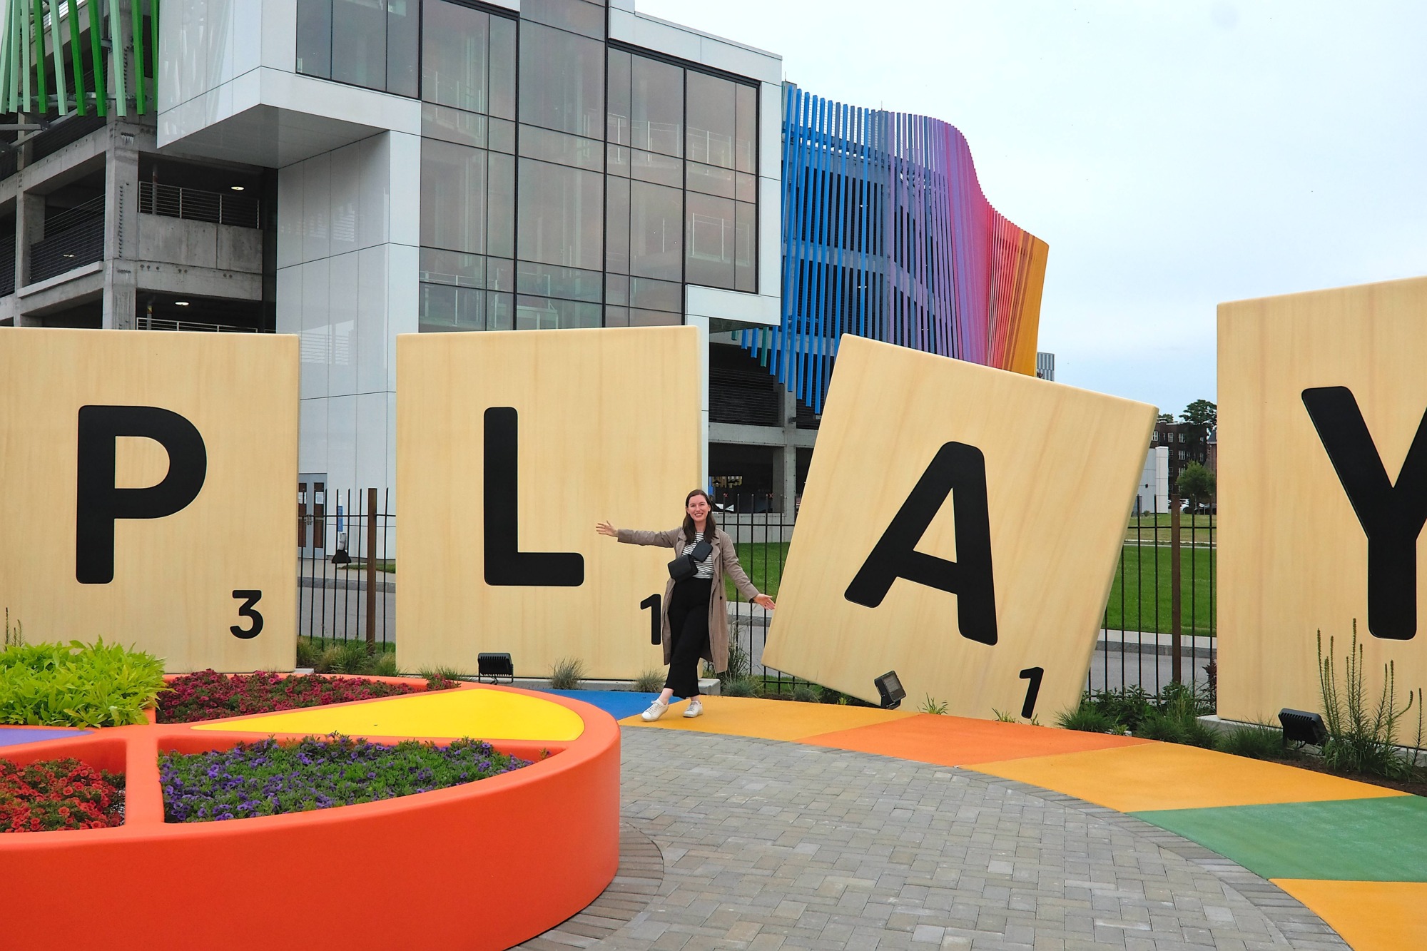
[[[194,725],[225,733],[344,733],[355,737],[574,740],[584,721],[568,707],[502,690],[442,690]]]

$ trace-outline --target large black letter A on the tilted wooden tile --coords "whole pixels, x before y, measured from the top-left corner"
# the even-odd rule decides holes
[[[956,561],[916,550],[926,527],[952,495]],[[990,513],[986,508],[986,457],[975,446],[946,443],[902,503],[892,524],[848,585],[853,604],[876,607],[892,583],[906,578],[956,595],[962,637],[996,643],[996,588],[990,570]]]

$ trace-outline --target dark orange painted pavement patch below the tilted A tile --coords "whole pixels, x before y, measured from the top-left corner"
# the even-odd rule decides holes
[[[966,765],[1083,753],[1086,750],[1110,750],[1150,741],[1114,737],[1106,733],[1077,733],[1017,723],[916,714],[905,720],[805,737],[802,743],[856,750],[858,753],[876,753],[938,765]]]

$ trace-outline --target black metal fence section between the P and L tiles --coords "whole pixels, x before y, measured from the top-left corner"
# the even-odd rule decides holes
[[[391,493],[324,490],[298,494],[297,633],[385,650],[397,635]]]

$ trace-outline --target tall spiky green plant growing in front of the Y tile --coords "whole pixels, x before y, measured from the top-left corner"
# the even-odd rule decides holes
[[[1329,655],[1323,655],[1323,631],[1319,631],[1319,688],[1323,700],[1323,725],[1329,738],[1323,743],[1323,764],[1334,773],[1367,773],[1388,780],[1408,780],[1416,773],[1416,755],[1397,748],[1397,730],[1403,715],[1417,701],[1417,743],[1421,747],[1423,711],[1421,690],[1416,697],[1407,693],[1407,703],[1398,708],[1396,697],[1396,667],[1383,665],[1383,688],[1377,703],[1368,708],[1367,678],[1363,670],[1363,645],[1357,643],[1357,618],[1353,618],[1353,641],[1346,657],[1343,687],[1339,688],[1333,660],[1333,638]]]

